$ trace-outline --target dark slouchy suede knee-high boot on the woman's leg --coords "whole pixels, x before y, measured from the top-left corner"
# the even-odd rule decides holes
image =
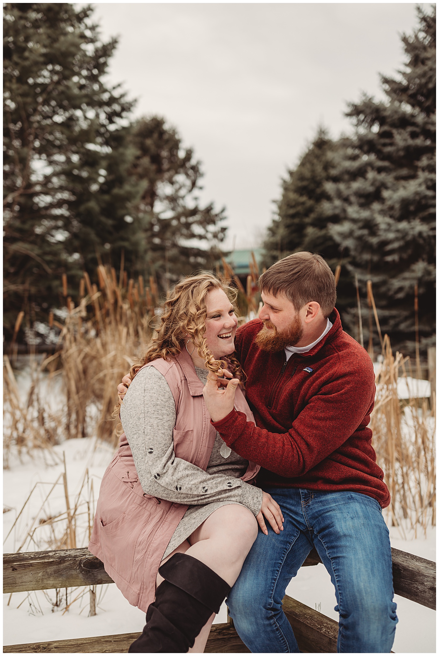
[[[186,554],[174,554],[159,574],[164,581],[155,591],[146,626],[130,653],[186,653],[230,590],[210,567]]]

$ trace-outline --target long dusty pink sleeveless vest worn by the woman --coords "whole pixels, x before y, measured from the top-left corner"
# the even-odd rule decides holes
[[[168,361],[157,359],[155,367],[166,379],[176,404],[174,453],[206,470],[216,430],[204,404],[204,385],[184,350]],[[235,407],[254,417],[244,394],[237,388]],[[242,476],[252,480],[259,466],[250,462]],[[105,471],[88,550],[102,560],[124,597],[146,612],[154,600],[155,579],[172,534],[187,510],[186,505],[156,499],[143,493],[130,446],[123,433],[119,450]]]

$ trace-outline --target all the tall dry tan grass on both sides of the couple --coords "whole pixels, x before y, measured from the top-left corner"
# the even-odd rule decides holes
[[[223,270],[217,269],[219,276],[235,281],[239,289],[244,310],[241,321],[258,311],[259,270],[254,257],[250,270],[244,289],[225,260]],[[63,283],[67,294],[67,280]],[[66,298],[68,314],[64,324],[58,324],[58,350],[38,365],[33,361],[26,398],[20,397],[9,359],[4,358],[5,466],[12,447],[18,453],[23,449],[31,453],[35,447],[50,453],[54,443],[85,436],[98,436],[116,446],[117,423],[111,420],[111,412],[117,401],[117,385],[133,359],[147,348],[161,310],[153,278],[145,285],[142,277],[128,279],[122,268],[117,276],[113,268],[100,265],[98,284],[92,285],[84,274],[77,306]],[[426,529],[436,522],[434,394],[430,404],[427,399],[398,399],[398,378],[410,373],[410,360],[399,353],[394,356],[387,335],[381,337],[372,283],[368,285],[368,301],[383,354],[371,426],[377,461],[391,491],[389,512],[395,525],[409,523]],[[56,323],[53,317],[50,321]],[[50,411],[45,396],[50,389],[41,386],[47,372],[48,380],[59,375],[64,383],[65,403],[58,411]]]

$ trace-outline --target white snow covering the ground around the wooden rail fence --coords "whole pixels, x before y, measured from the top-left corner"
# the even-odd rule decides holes
[[[54,447],[54,455],[55,459],[58,459],[58,464],[50,464],[54,462],[54,458],[48,457],[47,454],[43,455],[41,452],[35,453],[33,459],[27,455],[23,456],[22,462],[13,457],[10,461],[10,469],[3,472],[3,507],[11,508],[9,512],[3,514],[4,536],[9,533],[10,527],[33,485],[39,481],[54,483],[62,473],[64,470],[64,465],[61,464],[63,451],[66,454],[67,483],[71,505],[79,492],[86,468],[93,480],[95,499],[97,499],[100,480],[113,453],[108,445],[96,444],[96,441],[91,439],[68,440],[62,445]],[[58,488],[50,497],[52,499],[50,502],[52,515],[62,512],[66,507],[64,487],[60,485]],[[29,525],[35,516],[37,519],[39,518],[37,512],[43,502],[44,491],[47,494],[49,489],[50,485],[48,484],[37,487],[37,494],[33,494],[31,502],[28,504],[29,507],[26,506],[26,510],[17,524],[18,529],[12,531],[7,538],[4,552],[15,551],[20,546],[24,527]],[[429,529],[427,538],[423,535],[422,530],[417,532],[417,537],[413,537],[410,531],[406,531],[408,539],[403,538],[400,529],[392,527],[390,530],[392,546],[429,560],[436,560],[434,528]],[[77,546],[86,546],[87,542],[87,535],[84,532],[81,544],[77,544]],[[314,567],[301,567],[297,577],[286,589],[286,593],[299,602],[320,610],[324,615],[335,620],[338,619],[337,613],[334,611],[336,603],[334,588],[330,575],[322,564]],[[47,594],[53,600],[54,591],[48,590]],[[83,599],[82,605],[79,601],[75,602],[66,613],[63,613],[62,609],[56,609],[52,613],[52,606],[43,592],[33,592],[29,598],[24,592],[17,592],[12,595],[12,598],[9,599],[9,597],[9,594],[3,595],[3,643],[6,645],[141,631],[145,619],[144,613],[128,604],[114,584],[98,586],[99,603],[96,617],[87,617],[88,599],[86,597]],[[395,601],[398,604],[399,623],[396,627],[393,651],[396,653],[435,652],[435,611],[399,596],[395,597]],[[225,621],[226,611],[225,604],[223,604],[215,622]]]

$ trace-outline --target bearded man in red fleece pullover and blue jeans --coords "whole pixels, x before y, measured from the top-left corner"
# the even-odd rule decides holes
[[[233,407],[210,375],[204,399],[225,443],[262,466],[258,485],[278,502],[284,530],[259,531],[227,604],[252,652],[298,652],[282,611],[292,577],[315,546],[335,587],[337,651],[391,651],[396,628],[390,497],[368,428],[375,384],[368,354],[341,327],[335,280],[319,255],[295,253],[259,279],[259,319],[237,332],[246,398]]]

